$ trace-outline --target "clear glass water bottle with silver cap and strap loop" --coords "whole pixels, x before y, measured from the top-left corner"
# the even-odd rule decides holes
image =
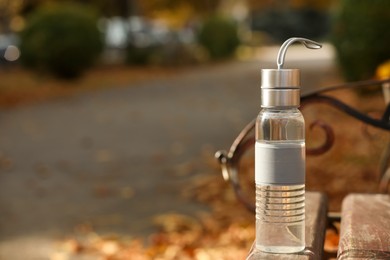
[[[300,105],[300,72],[284,69],[287,48],[281,46],[277,69],[261,72],[261,111],[256,121],[256,250],[295,253],[305,248],[305,123]]]

